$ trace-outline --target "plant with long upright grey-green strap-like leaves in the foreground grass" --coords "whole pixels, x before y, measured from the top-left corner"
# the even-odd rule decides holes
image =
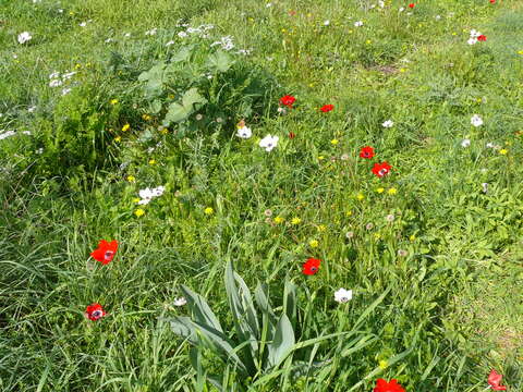
[[[191,359],[198,378],[204,373],[207,380],[220,390],[224,390],[226,385],[220,383],[218,377],[208,375],[202,363],[202,353],[206,350],[210,350],[226,365],[232,366],[241,378],[254,381],[263,376],[275,375],[285,360],[291,364],[297,350],[344,334],[332,333],[299,342],[297,286],[289,280],[285,280],[283,285],[283,306],[279,317],[270,305],[267,285],[258,283],[253,299],[244,280],[233,271],[232,262],[227,265],[224,280],[229,308],[234,321],[233,338],[223,330],[204,297],[184,285],[181,290],[187,299],[193,318],[177,316],[170,319],[172,331],[186,338],[196,347],[191,352]],[[294,370],[303,370],[303,363],[295,365]],[[311,362],[308,370],[317,365]]]

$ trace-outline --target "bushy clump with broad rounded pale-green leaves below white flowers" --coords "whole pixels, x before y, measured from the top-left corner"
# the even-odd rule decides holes
[[[221,126],[232,130],[241,119],[259,120],[269,113],[278,86],[244,57],[203,44],[181,47],[143,72],[138,81],[149,112],[179,137]]]

